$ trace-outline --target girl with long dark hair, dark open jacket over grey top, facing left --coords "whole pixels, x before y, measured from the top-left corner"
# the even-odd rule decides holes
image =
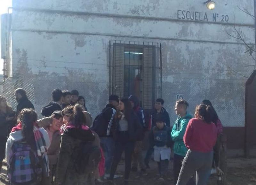
[[[132,105],[129,99],[123,98],[119,101],[118,108],[121,112],[116,124],[116,131],[114,135],[115,152],[113,163],[110,169],[109,180],[114,179],[116,168],[121,160],[122,153],[125,154],[125,172],[124,184],[128,184],[128,179],[131,171],[132,152],[134,144],[142,133],[142,127],[139,118],[132,110]]]

